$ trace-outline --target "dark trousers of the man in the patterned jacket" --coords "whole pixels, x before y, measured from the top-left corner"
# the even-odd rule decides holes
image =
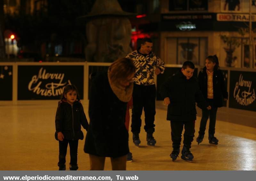
[[[145,126],[144,129],[148,133],[155,131],[155,115],[156,115],[156,86],[155,85],[138,85],[133,87],[133,109],[132,109],[132,132],[140,133],[141,114],[144,108]]]

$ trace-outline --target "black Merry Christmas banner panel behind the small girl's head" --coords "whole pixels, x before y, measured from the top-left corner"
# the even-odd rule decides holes
[[[68,84],[74,84],[84,98],[83,65],[18,66],[18,100],[60,99]]]

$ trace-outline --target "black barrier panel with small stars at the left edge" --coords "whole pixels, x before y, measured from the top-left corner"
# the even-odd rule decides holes
[[[12,65],[0,66],[0,101],[12,101]]]

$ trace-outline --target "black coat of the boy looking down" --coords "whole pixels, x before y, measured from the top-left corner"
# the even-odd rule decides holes
[[[170,77],[160,87],[163,98],[169,97],[167,120],[172,122],[190,122],[196,120],[196,102],[206,108],[202,92],[199,89],[196,77],[187,79],[182,72]]]

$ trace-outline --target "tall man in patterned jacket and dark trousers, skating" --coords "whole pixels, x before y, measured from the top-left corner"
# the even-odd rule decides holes
[[[156,86],[154,82],[154,72],[156,75],[164,73],[164,62],[151,50],[153,42],[149,38],[142,40],[141,47],[126,57],[131,58],[136,67],[133,87],[133,109],[132,109],[132,139],[136,146],[140,144],[141,114],[144,108],[145,126],[147,132],[147,142],[150,146],[155,146],[156,140],[153,137],[155,131],[156,114]],[[155,69],[155,71],[154,71]]]

